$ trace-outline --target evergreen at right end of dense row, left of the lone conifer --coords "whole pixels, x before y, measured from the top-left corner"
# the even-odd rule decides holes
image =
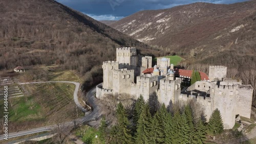
[[[196,138],[196,143],[199,143],[199,144],[204,144],[205,143],[205,140],[206,140],[206,127],[204,126],[203,122],[201,119],[199,119],[199,122],[197,124],[197,131],[196,131],[196,135],[197,135],[197,138]]]

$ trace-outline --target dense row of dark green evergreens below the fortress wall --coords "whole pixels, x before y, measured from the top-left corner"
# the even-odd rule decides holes
[[[140,96],[133,113],[129,114],[120,102],[115,125],[109,129],[105,118],[102,118],[99,137],[105,143],[205,143],[206,134],[219,135],[223,132],[218,109],[206,123],[203,112],[194,108],[195,102],[181,107],[153,106]]]

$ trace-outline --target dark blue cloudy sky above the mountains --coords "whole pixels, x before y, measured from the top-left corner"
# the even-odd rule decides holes
[[[246,0],[56,0],[97,20],[119,20],[141,10],[172,8],[196,2],[232,4]]]

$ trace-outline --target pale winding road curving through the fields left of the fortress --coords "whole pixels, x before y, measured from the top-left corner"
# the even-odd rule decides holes
[[[68,81],[58,81],[59,83],[73,83],[76,85],[75,88],[75,92],[74,92],[74,100],[77,104],[77,106],[81,109],[84,109],[80,103],[78,102],[78,98],[77,98],[77,92],[79,90],[79,83],[76,82],[68,82]],[[32,83],[48,83],[48,82],[31,82],[31,83],[20,83],[20,84],[32,84]],[[87,98],[88,98],[88,103],[93,107],[93,111],[82,117],[82,118],[77,118],[77,124],[81,124],[83,122],[87,122],[87,121],[91,121],[93,120],[95,117],[99,117],[101,115],[101,111],[99,109],[99,106],[97,106],[96,101],[97,99],[94,97],[94,94],[96,92],[96,87],[94,87],[93,89],[91,89],[88,93],[87,93]],[[73,126],[74,123],[73,122],[67,122],[65,123],[66,126]],[[25,131],[18,131],[18,132],[14,132],[14,133],[9,133],[8,137],[17,137],[17,136],[22,136],[22,135],[27,135],[27,134],[32,134],[32,133],[37,133],[37,132],[41,132],[41,131],[51,131],[53,129],[55,129],[57,126],[56,125],[51,125],[51,126],[46,126],[46,127],[39,127],[39,128],[35,128],[35,129],[30,129],[30,130],[25,130]],[[0,140],[4,139],[5,136],[4,135],[0,135]]]

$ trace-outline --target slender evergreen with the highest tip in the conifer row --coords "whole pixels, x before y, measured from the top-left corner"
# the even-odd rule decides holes
[[[142,107],[145,106],[145,100],[142,95],[137,99],[135,103],[135,109],[134,109],[134,124],[136,125],[138,122],[138,119],[140,118],[140,114],[142,111]]]

